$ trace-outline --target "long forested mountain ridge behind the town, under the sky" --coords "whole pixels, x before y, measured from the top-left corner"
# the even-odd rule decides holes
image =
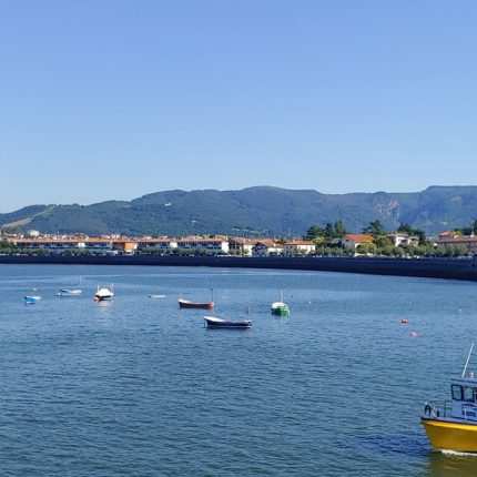
[[[361,232],[378,219],[388,231],[399,223],[426,234],[466,226],[477,219],[477,186],[432,186],[415,193],[322,194],[312,190],[256,186],[240,191],[165,191],[131,202],[32,205],[0,214],[0,226],[43,233],[122,233],[129,236],[225,234],[300,236],[312,224],[341,219]]]

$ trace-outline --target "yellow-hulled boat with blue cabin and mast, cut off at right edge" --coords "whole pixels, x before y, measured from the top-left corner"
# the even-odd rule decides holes
[[[451,400],[425,404],[420,422],[436,449],[477,453],[477,378],[467,374],[473,348],[474,343],[463,374],[450,380]]]

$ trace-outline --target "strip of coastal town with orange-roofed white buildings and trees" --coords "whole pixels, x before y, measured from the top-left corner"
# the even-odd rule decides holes
[[[474,233],[446,231],[426,238],[404,232],[386,234],[349,233],[324,240],[283,240],[270,237],[209,236],[142,236],[118,234],[89,236],[42,234],[30,230],[26,233],[6,234],[0,237],[0,253],[39,255],[232,255],[232,256],[307,256],[307,255],[367,255],[367,256],[474,256],[477,236]]]

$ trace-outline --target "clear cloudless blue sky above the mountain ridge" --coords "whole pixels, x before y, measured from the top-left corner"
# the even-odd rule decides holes
[[[476,184],[475,0],[0,0],[0,213]]]

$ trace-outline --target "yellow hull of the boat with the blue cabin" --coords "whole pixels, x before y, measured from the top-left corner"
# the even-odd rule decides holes
[[[477,453],[477,423],[460,424],[422,418],[430,445],[436,449]]]

